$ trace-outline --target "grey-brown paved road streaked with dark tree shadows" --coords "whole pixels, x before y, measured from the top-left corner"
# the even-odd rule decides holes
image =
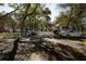
[[[13,41],[14,41],[14,39],[5,39],[5,40],[3,40],[4,43],[0,42],[0,48],[4,48],[5,50],[11,51],[11,49],[13,47]],[[27,37],[27,38],[21,38],[20,41],[21,42],[19,42],[19,50],[15,55],[15,60],[48,60],[48,57],[52,60],[53,57],[51,57],[51,55],[49,56],[48,54],[52,53],[52,51],[57,52],[59,50],[59,48],[61,51],[57,52],[57,53],[63,55],[66,59],[72,59],[72,60],[74,59],[75,55],[73,56],[72,52],[70,52],[72,49],[75,49],[76,51],[78,51],[78,53],[83,53],[84,55],[86,55],[86,48],[82,44],[81,41],[70,40],[70,39],[58,39],[58,38],[54,38],[53,35],[51,35],[51,34],[49,35],[49,33],[38,35],[38,36]],[[34,42],[34,43],[32,43],[32,42]],[[59,44],[59,47],[58,47],[58,44]],[[39,50],[39,49],[44,48],[45,46],[47,46],[46,48],[48,48],[47,51],[49,51],[49,53],[48,52],[45,53]],[[5,48],[5,47],[9,47],[9,48]],[[49,50],[49,48],[51,48],[51,51]],[[67,48],[71,48],[71,49],[67,49]],[[35,49],[36,49],[36,51],[30,52]],[[5,52],[5,50],[4,50],[4,52]],[[54,54],[54,53],[52,53],[52,54]],[[38,55],[38,56],[36,56],[36,55]],[[57,56],[57,55],[58,54],[54,54],[54,56]],[[48,56],[48,57],[46,59],[44,56]],[[79,56],[75,56],[75,57],[78,59]],[[57,60],[57,59],[53,59],[53,60]],[[84,60],[86,60],[86,59],[84,57]]]

